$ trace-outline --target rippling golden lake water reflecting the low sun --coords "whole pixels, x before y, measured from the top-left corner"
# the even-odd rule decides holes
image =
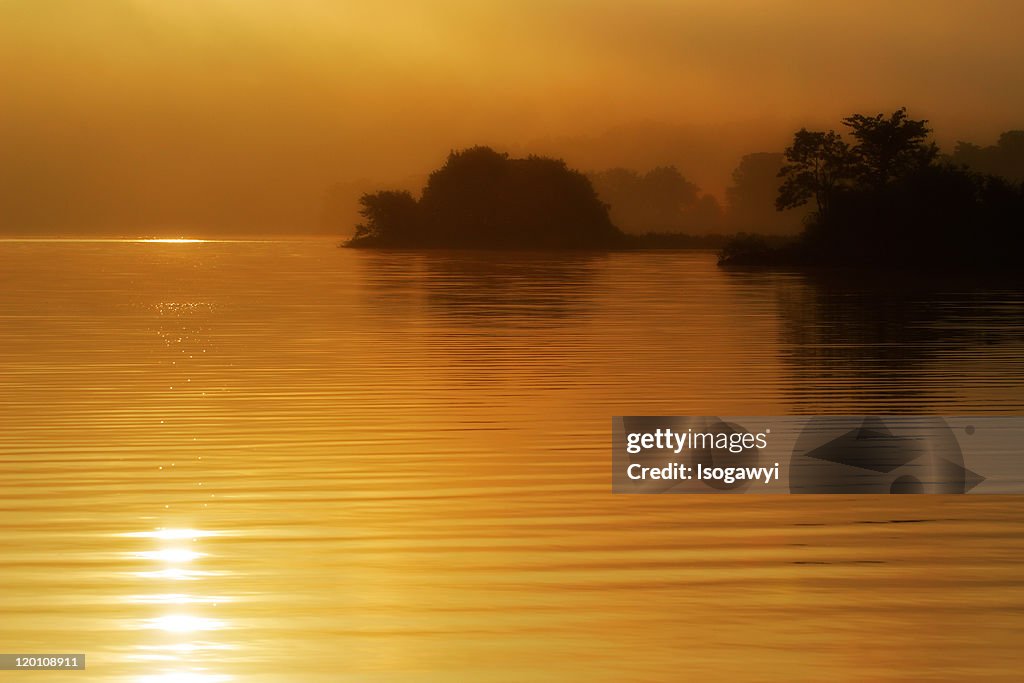
[[[7,680],[1019,680],[1024,501],[612,497],[612,415],[1024,413],[1024,295],[0,243]]]

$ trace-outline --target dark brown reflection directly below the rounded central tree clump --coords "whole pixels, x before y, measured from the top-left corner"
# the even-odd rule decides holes
[[[413,308],[470,327],[547,326],[585,312],[605,257],[542,252],[375,252],[361,282],[384,315]]]

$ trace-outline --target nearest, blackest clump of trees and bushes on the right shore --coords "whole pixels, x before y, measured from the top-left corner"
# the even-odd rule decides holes
[[[810,206],[803,232],[784,247],[736,239],[722,263],[1020,269],[1024,133],[943,157],[905,109],[842,123],[850,139],[801,129],[785,150],[775,205]]]

